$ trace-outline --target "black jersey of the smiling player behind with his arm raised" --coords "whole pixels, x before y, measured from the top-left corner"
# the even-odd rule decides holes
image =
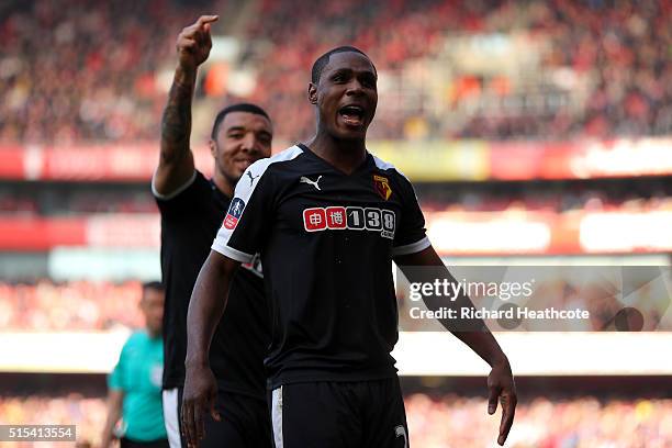
[[[242,179],[242,182],[249,183]],[[164,389],[184,384],[187,310],[201,266],[222,225],[231,198],[199,171],[169,197],[154,192],[161,212]],[[228,306],[215,331],[210,366],[219,388],[266,400],[264,358],[270,343],[269,310],[259,257],[236,272]]]

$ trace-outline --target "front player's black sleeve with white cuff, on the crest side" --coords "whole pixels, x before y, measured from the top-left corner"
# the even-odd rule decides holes
[[[400,179],[401,221],[392,245],[392,256],[416,254],[430,246],[425,229],[425,216],[417,203],[413,186],[403,175]]]

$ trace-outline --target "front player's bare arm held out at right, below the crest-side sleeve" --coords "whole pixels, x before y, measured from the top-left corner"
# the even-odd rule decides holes
[[[414,267],[432,268],[430,276],[433,278],[424,279],[425,281],[433,281],[438,276],[441,279],[447,279],[449,282],[456,281],[432,246],[416,254],[397,256],[394,258],[394,261],[411,282],[423,281],[423,278],[418,278],[422,277],[422,273],[418,273],[415,269],[410,269]],[[425,303],[430,310],[441,305],[441,303],[429,300],[426,300]],[[456,309],[473,307],[469,296],[463,293],[456,298],[453,304]],[[441,324],[483,358],[492,368],[488,377],[488,413],[494,414],[497,408],[497,401],[502,403],[502,422],[500,424],[497,444],[504,445],[513,425],[517,403],[516,387],[506,355],[504,355],[504,351],[502,351],[502,348],[482,320],[452,321],[450,323],[443,321]]]

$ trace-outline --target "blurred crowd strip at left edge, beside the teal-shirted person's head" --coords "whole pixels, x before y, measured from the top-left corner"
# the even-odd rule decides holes
[[[0,328],[20,332],[105,331],[143,325],[136,281],[0,282]]]

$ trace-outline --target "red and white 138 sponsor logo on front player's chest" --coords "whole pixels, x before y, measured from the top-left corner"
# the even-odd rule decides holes
[[[372,231],[383,238],[394,238],[395,215],[391,210],[361,206],[327,206],[303,211],[303,227],[306,232],[321,231]]]

